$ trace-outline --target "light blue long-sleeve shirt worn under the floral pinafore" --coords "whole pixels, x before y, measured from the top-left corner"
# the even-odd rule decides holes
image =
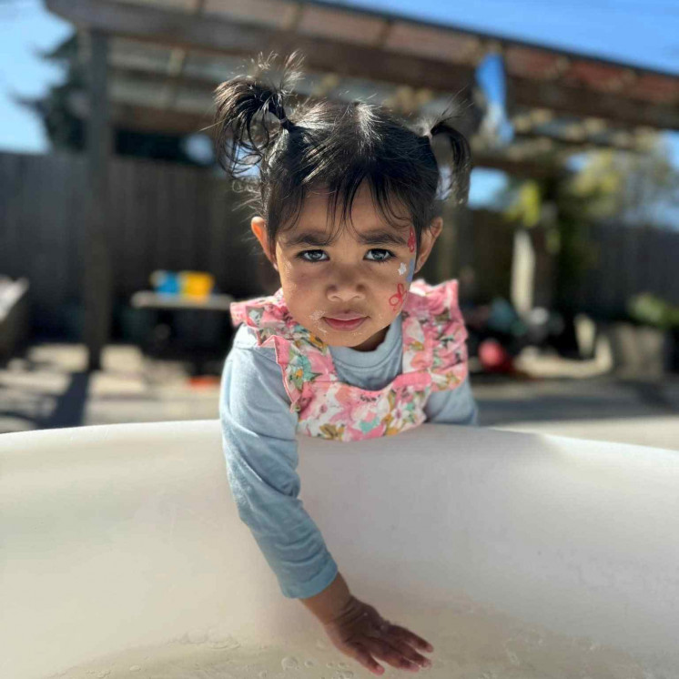
[[[330,347],[339,379],[380,390],[400,374],[400,316],[375,350]],[[288,598],[326,589],[338,573],[319,528],[299,500],[297,421],[273,349],[259,347],[254,330],[241,325],[222,373],[219,418],[228,482],[245,522]],[[433,392],[427,421],[478,425],[469,380]],[[422,425],[426,426],[426,425]]]

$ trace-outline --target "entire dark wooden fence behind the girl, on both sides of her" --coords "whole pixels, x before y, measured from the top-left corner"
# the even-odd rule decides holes
[[[114,157],[109,181],[118,311],[135,291],[150,289],[155,269],[209,271],[218,290],[237,299],[276,289],[275,272],[256,254],[248,212],[238,208],[243,197],[221,171]],[[85,157],[0,154],[0,274],[29,279],[38,334],[73,336],[82,311],[86,186]],[[512,228],[484,211],[451,209],[445,218],[448,230],[421,275],[434,283],[471,269],[474,284],[469,293],[461,286],[463,299],[509,299]],[[679,304],[679,233],[601,227],[592,238],[597,264],[572,292],[580,309],[610,318],[644,290]]]

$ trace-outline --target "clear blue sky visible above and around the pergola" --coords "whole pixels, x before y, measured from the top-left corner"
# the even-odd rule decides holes
[[[679,0],[350,0],[353,5],[461,25],[591,56],[679,74]],[[40,96],[61,72],[35,56],[69,35],[41,0],[0,1],[0,150],[45,153],[39,121],[11,99]],[[666,136],[679,167],[679,134]],[[502,187],[501,173],[474,170],[471,205]]]

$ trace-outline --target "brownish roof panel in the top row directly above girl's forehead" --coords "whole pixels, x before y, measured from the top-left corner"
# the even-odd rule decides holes
[[[384,19],[346,11],[304,5],[297,30],[308,35],[323,35],[361,45],[374,45],[386,22]]]

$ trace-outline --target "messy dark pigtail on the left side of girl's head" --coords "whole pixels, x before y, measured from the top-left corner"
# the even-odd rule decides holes
[[[259,56],[257,76],[236,76],[215,89],[215,153],[219,165],[233,177],[265,160],[281,132],[294,127],[285,101],[299,76],[300,57],[293,53],[286,59],[278,86],[265,80],[275,58]]]

